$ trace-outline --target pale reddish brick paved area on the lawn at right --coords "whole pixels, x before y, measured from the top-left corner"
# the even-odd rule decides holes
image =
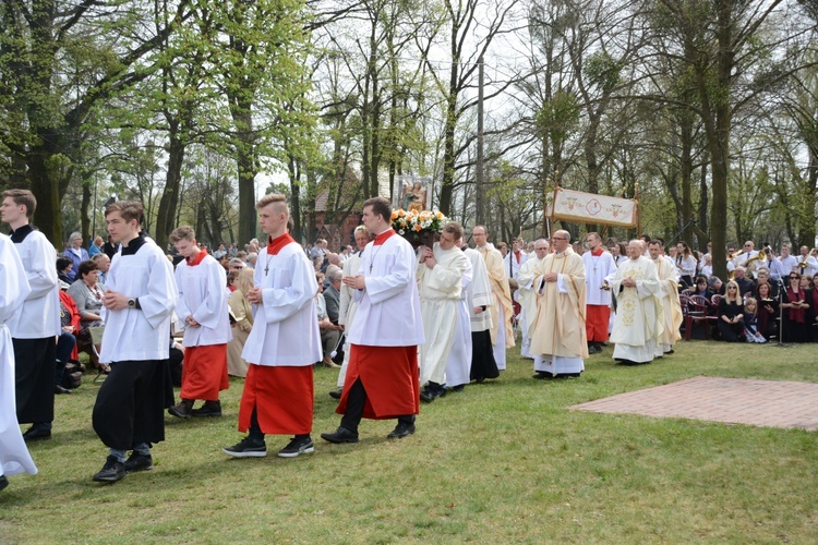
[[[816,431],[818,384],[700,376],[572,409]]]

